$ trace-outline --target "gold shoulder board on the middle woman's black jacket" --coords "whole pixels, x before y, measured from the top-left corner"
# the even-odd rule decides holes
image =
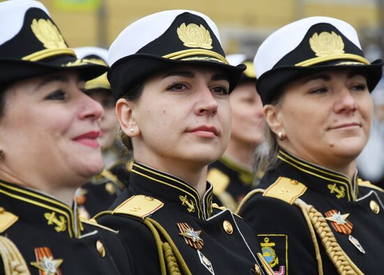
[[[128,198],[128,200],[121,203],[112,214],[126,214],[140,219],[145,219],[150,214],[156,212],[164,203],[149,196],[138,195]]]

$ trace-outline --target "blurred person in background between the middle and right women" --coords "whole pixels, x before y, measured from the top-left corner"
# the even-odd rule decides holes
[[[246,70],[229,97],[232,126],[228,147],[216,162],[209,164],[207,180],[214,187],[214,200],[235,211],[254,186],[253,155],[263,142],[264,117],[252,61],[244,54],[226,58],[231,65],[243,63]]]

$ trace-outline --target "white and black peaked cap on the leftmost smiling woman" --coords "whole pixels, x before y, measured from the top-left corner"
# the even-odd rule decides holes
[[[0,2],[0,85],[63,70],[92,79],[107,69],[77,60],[47,8],[33,0]]]

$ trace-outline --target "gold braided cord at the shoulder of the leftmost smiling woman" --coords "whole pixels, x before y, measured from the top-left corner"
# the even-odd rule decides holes
[[[22,254],[10,239],[0,236],[0,256],[5,275],[31,275]]]

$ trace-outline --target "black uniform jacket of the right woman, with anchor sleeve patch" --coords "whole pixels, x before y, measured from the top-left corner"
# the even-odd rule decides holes
[[[380,273],[383,190],[357,173],[351,182],[286,151],[278,157],[239,207],[275,274]]]

